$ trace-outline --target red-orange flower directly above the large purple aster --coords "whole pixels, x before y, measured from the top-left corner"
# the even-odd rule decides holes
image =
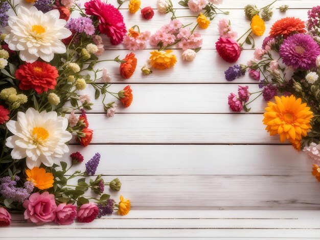
[[[270,37],[283,35],[284,38],[291,33],[305,33],[305,22],[300,18],[285,17],[273,23],[270,30]]]

